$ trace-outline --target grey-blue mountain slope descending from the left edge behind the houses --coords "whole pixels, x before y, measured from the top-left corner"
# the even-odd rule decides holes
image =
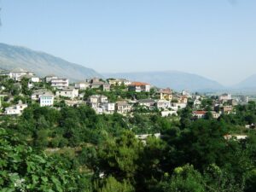
[[[39,77],[55,74],[72,81],[91,77],[102,77],[93,69],[80,66],[44,52],[34,51],[24,47],[0,44],[0,68],[24,68],[36,73]]]

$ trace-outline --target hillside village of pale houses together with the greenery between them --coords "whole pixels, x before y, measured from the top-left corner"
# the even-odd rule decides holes
[[[179,93],[170,88],[157,88],[152,84],[132,82],[129,79],[93,78],[70,83],[69,79],[55,75],[39,78],[22,68],[2,71],[0,76],[11,79],[17,90],[24,90],[22,86],[26,86],[31,97],[31,102],[19,100],[14,103],[14,96],[6,92],[1,84],[3,115],[20,115],[29,103],[38,102],[40,107],[59,108],[60,103],[65,103],[70,107],[88,105],[98,114],[129,115],[141,111],[159,112],[162,117],[177,116],[180,109],[190,105],[193,108],[192,119],[204,119],[209,113],[212,118],[218,119],[223,113],[236,113],[234,107],[237,104],[247,104],[249,101],[248,96],[234,99],[226,93],[211,97],[190,94],[188,90]],[[27,84],[21,84],[22,79],[26,79]],[[18,96],[22,98],[23,94],[20,92]]]

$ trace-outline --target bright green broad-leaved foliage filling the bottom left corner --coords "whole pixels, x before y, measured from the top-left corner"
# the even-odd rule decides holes
[[[0,129],[1,191],[78,191],[78,172]]]

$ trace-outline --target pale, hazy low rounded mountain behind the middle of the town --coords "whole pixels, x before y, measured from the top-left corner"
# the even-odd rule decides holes
[[[173,90],[215,91],[223,90],[223,85],[211,79],[192,73],[176,71],[145,73],[105,73],[106,78],[125,78],[147,82],[157,87],[170,87]]]

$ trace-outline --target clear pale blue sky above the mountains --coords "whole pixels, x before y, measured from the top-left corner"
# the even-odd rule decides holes
[[[255,0],[0,0],[0,42],[99,73],[256,73]]]

